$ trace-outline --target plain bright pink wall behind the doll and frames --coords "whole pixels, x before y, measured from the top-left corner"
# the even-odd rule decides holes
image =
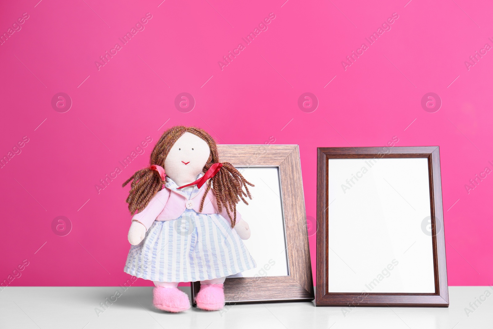
[[[493,176],[464,187],[493,169],[491,2],[37,1],[0,4],[0,33],[9,36],[0,45],[0,156],[13,155],[0,169],[1,281],[25,259],[12,286],[128,280],[121,183],[148,163],[166,128],[184,124],[219,144],[271,136],[299,144],[312,218],[317,146],[384,146],[393,136],[396,146],[440,146],[449,284],[493,282]],[[12,28],[23,13],[29,18]],[[146,13],[144,29],[122,45]],[[242,37],[270,13],[267,30],[246,45]],[[365,37],[393,13],[369,45]],[[245,49],[221,70],[218,61],[239,43]],[[358,50],[362,43],[368,49]],[[114,55],[98,69],[106,51]],[[352,51],[362,54],[344,68]],[[477,63],[475,51],[484,54]],[[52,106],[60,92],[72,102],[64,113],[63,102]],[[195,99],[190,112],[174,105],[182,92]],[[310,113],[298,107],[305,92],[319,103]],[[438,111],[421,105],[429,92],[441,99]],[[152,145],[122,169],[147,136]],[[122,172],[98,193],[117,166]],[[66,236],[52,230],[58,216],[70,219]],[[315,269],[315,236],[310,245]]]

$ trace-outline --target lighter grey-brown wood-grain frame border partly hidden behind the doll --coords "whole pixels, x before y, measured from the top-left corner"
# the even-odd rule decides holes
[[[289,266],[288,276],[226,278],[226,304],[313,300],[315,295],[298,146],[218,145],[218,151],[221,162],[230,162],[235,167],[279,167]],[[200,282],[193,282],[190,287],[192,304],[195,305]]]

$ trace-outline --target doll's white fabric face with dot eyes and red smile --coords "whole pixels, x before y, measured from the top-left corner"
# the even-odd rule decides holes
[[[164,160],[166,175],[178,186],[192,183],[204,169],[210,154],[206,141],[192,133],[184,133]]]

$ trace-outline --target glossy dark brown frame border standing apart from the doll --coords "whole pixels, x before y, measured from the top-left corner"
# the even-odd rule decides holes
[[[329,159],[427,158],[431,205],[434,293],[362,293],[328,291]],[[436,230],[436,223],[441,230]],[[317,148],[317,306],[449,306],[439,146]]]

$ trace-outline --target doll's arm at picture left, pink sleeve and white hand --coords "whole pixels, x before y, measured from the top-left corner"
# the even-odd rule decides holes
[[[132,245],[138,245],[145,237],[145,232],[151,227],[156,217],[163,211],[170,194],[166,189],[157,192],[149,201],[149,204],[132,218],[132,224],[128,231],[128,241]]]

